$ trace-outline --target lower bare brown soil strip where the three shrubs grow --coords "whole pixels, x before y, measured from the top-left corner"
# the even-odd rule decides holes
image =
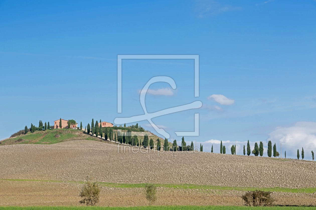
[[[0,206],[82,206],[81,184],[40,181],[0,181]],[[154,205],[242,206],[244,191],[159,187]],[[274,193],[276,205],[315,206],[316,194]],[[103,187],[98,206],[148,206],[143,188]]]

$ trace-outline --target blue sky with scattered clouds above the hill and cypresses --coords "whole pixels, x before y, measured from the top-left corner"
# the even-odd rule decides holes
[[[139,91],[151,77],[169,76],[177,88],[151,85],[148,112],[203,103],[153,119],[169,141],[181,140],[174,131],[193,131],[198,112],[200,135],[185,140],[203,142],[204,151],[248,139],[252,148],[268,140],[316,148],[315,14],[313,0],[1,1],[0,139],[39,120],[87,125],[141,115]],[[118,54],[198,54],[200,96],[193,60],[124,60],[117,113]],[[297,149],[282,153],[295,158]]]

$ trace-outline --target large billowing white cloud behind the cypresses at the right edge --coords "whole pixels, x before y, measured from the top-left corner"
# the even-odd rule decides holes
[[[269,133],[267,141],[272,143],[284,144],[284,150],[291,150],[296,152],[299,149],[300,153],[302,147],[304,148],[316,148],[316,122],[297,122],[292,127],[277,127],[275,131]],[[287,147],[285,145],[299,147]],[[305,153],[305,152],[304,152]],[[296,154],[296,153],[295,153]],[[307,155],[305,155],[307,156]],[[308,155],[310,156],[310,155]]]

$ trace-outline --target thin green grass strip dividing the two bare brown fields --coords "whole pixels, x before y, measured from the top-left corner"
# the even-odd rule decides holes
[[[79,183],[82,184],[83,181],[61,181],[61,180],[35,180],[35,179],[0,179],[7,181],[35,181],[35,182],[66,182],[66,183]],[[99,182],[101,186],[106,187],[119,187],[119,188],[143,188],[145,183],[142,184],[117,184],[117,183],[107,183]],[[155,184],[157,187],[169,187],[169,188],[179,188],[179,189],[199,189],[199,190],[239,190],[239,191],[250,191],[250,190],[264,190],[264,191],[275,191],[275,192],[293,192],[293,193],[314,193],[316,188],[255,188],[255,187],[222,187],[222,186],[210,186],[210,185],[197,185],[197,184]]]

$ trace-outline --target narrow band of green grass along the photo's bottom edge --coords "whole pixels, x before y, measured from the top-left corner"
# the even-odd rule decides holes
[[[316,207],[145,206],[145,207],[0,207],[0,210],[312,210]]]

